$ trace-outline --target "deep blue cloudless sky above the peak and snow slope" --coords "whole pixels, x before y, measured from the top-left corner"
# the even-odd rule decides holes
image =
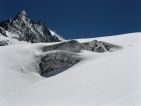
[[[66,39],[141,32],[141,0],[1,0],[0,20],[21,10]]]

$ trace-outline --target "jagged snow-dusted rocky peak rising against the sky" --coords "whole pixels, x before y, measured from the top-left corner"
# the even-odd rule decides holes
[[[6,32],[10,33],[10,35]],[[33,22],[26,11],[19,12],[13,19],[1,21],[0,33],[19,41],[31,43],[60,41],[58,37],[51,35],[46,24],[41,21]]]

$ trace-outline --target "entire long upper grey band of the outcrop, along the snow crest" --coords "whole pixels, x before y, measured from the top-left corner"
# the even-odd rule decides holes
[[[93,52],[102,53],[102,52],[110,51],[111,48],[118,48],[118,46],[97,40],[84,42],[84,43],[80,43],[76,40],[70,40],[49,46],[44,46],[41,48],[41,50],[43,52],[53,51],[53,50],[65,50],[65,51],[77,52],[77,53],[79,53],[81,50],[89,50]]]

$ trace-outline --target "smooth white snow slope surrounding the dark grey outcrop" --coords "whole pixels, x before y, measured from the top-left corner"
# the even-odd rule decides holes
[[[93,39],[122,46],[82,51],[84,60],[50,78],[37,74],[39,47],[0,47],[0,106],[141,106],[141,33]]]

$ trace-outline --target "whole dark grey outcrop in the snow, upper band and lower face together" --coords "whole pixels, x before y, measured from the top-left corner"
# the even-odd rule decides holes
[[[110,51],[113,47],[115,46],[110,43],[103,43],[97,40],[85,43],[70,40],[42,46],[40,50],[43,52],[44,56],[41,57],[39,63],[40,75],[50,77],[67,70],[82,60],[78,55],[82,50],[103,53]]]

